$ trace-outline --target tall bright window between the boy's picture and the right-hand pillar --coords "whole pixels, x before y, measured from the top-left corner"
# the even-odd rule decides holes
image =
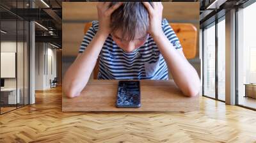
[[[217,22],[206,26],[203,32],[203,94],[225,101],[225,15]]]

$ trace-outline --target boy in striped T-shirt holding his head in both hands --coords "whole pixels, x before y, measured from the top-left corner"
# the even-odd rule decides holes
[[[195,96],[200,79],[182,52],[160,2],[97,4],[98,21],[84,36],[76,61],[65,73],[64,92],[79,96],[99,57],[98,79],[173,80],[186,96]]]

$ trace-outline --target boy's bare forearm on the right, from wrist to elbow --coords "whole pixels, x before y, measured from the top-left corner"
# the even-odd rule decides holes
[[[154,36],[153,39],[156,41],[177,86],[186,96],[196,96],[200,90],[200,79],[182,50],[175,49],[164,33]]]

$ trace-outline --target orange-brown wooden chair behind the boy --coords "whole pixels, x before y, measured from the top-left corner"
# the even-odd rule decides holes
[[[170,23],[173,31],[180,40],[184,55],[187,59],[193,59],[196,56],[197,30],[193,24],[188,23]],[[88,22],[84,26],[84,34],[92,26],[92,22]],[[99,60],[93,70],[93,79],[97,79],[99,73]]]

